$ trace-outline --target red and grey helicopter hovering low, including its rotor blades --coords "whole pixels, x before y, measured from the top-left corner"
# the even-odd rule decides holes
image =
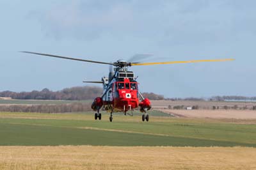
[[[92,109],[95,111],[95,120],[99,118],[101,120],[100,109],[110,113],[109,121],[113,121],[113,112],[124,112],[124,114],[130,114],[128,112],[134,111],[134,109],[140,107],[142,113],[142,121],[148,121],[148,112],[151,108],[151,102],[148,98],[144,98],[138,88],[138,82],[134,76],[134,72],[129,71],[130,66],[147,66],[147,65],[170,65],[177,63],[200,63],[200,62],[216,62],[216,61],[233,61],[234,59],[202,59],[191,61],[167,61],[158,63],[141,63],[125,61],[118,59],[114,63],[106,63],[102,61],[92,61],[87,59],[70,58],[65,56],[56,56],[52,54],[42,54],[38,52],[21,51],[29,54],[36,54],[40,56],[48,56],[52,58],[70,59],[76,61],[83,61],[88,63],[97,63],[102,65],[109,65],[108,77],[102,77],[101,81],[84,81],[87,83],[100,83],[103,85],[103,95],[95,98],[92,103]],[[133,57],[136,58],[136,55]]]

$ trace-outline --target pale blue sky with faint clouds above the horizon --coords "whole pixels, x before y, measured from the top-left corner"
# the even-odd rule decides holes
[[[235,58],[224,63],[133,66],[140,90],[164,97],[256,96],[256,1],[0,1],[0,91],[59,90],[99,81],[99,61]]]

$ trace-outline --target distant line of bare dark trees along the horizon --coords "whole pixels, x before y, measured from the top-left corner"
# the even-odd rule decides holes
[[[47,88],[42,91],[29,91],[29,92],[13,92],[13,91],[2,91],[0,97],[10,97],[13,99],[25,99],[25,100],[93,100],[96,97],[102,95],[102,88],[95,86],[81,86],[73,88],[65,88],[60,91],[51,91]],[[191,101],[250,101],[256,100],[256,97],[243,97],[243,96],[215,96],[211,98],[164,98],[163,95],[157,95],[155,93],[142,93],[143,97],[150,100],[191,100]]]

